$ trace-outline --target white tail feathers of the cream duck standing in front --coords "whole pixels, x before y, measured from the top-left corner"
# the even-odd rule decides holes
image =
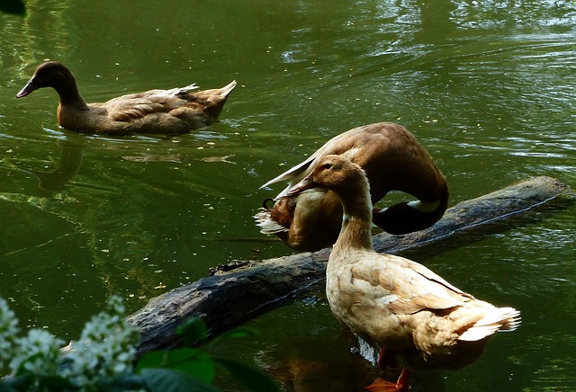
[[[497,331],[514,331],[522,319],[514,307],[497,307],[464,331],[458,340],[475,342]]]

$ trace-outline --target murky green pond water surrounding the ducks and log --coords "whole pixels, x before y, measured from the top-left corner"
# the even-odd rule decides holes
[[[26,5],[25,17],[0,14],[0,295],[22,326],[76,339],[112,293],[131,313],[218,263],[293,254],[252,218],[284,185],[258,187],[362,124],[410,129],[451,204],[530,176],[576,183],[571,1]],[[54,91],[15,99],[45,58],[72,69],[87,102],[238,87],[220,122],[189,135],[76,135],[58,128]],[[576,208],[520,223],[410,252],[523,318],[472,366],[416,375],[412,390],[576,390]],[[287,390],[360,388],[322,290],[250,321],[261,337],[220,352]]]

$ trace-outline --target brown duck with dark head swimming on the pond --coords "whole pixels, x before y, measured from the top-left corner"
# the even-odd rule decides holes
[[[131,133],[180,134],[211,125],[224,107],[236,81],[220,89],[190,93],[196,85],[171,90],[127,94],[103,103],[86,103],[72,72],[58,61],[47,61],[16,94],[52,87],[60,97],[58,124],[82,133],[125,135]]]

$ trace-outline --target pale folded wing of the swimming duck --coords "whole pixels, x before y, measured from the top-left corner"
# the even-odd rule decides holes
[[[186,101],[178,95],[195,88],[196,85],[187,85],[170,90],[149,90],[144,93],[122,95],[94,106],[105,109],[107,116],[112,120],[141,119],[150,113],[168,112],[179,108]]]

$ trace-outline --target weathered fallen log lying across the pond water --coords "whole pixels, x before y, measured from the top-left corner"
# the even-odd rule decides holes
[[[570,187],[550,177],[535,177],[446,211],[433,227],[403,236],[374,236],[377,252],[398,253],[428,245],[500,220],[509,221],[528,209],[559,200],[555,209],[572,203]],[[566,197],[560,197],[566,196]],[[191,316],[202,316],[211,334],[220,334],[281,306],[285,298],[324,279],[329,249],[263,261],[233,262],[214,275],[150,299],[128,317],[141,330],[139,354],[173,348],[181,343],[176,326]],[[231,271],[225,271],[229,269]]]

